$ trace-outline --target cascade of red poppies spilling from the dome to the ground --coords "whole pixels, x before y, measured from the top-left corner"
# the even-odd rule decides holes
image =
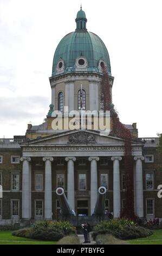
[[[112,133],[125,141],[124,169],[125,169],[125,206],[121,212],[121,217],[137,220],[134,214],[134,195],[133,195],[133,156],[131,145],[131,132],[119,120],[118,113],[112,104],[112,87],[108,72],[105,66],[102,67],[102,93],[104,99],[104,111],[111,111]]]

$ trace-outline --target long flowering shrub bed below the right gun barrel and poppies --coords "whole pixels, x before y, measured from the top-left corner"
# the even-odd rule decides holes
[[[95,231],[98,230],[120,230],[121,228],[124,227],[132,227],[134,225],[137,225],[135,222],[131,220],[127,220],[125,218],[118,218],[118,219],[113,219],[110,221],[101,221],[95,226]]]

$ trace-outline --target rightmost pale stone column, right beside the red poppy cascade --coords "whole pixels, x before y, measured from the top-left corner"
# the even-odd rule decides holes
[[[144,198],[143,198],[143,177],[142,160],[144,156],[134,156],[135,162],[135,208],[138,217],[144,217]]]

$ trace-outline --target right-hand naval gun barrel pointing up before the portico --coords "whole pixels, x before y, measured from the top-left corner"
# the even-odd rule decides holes
[[[105,215],[105,194],[106,194],[106,187],[103,187],[103,186],[99,187],[98,198],[96,200],[93,215],[97,215],[97,216]]]

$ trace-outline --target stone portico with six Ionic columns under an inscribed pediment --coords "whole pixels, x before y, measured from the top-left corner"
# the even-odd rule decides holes
[[[77,138],[73,143],[72,136]],[[82,144],[87,136],[92,136],[92,144]],[[59,143],[58,143],[59,142]],[[85,142],[84,142],[85,143]],[[33,159],[40,159],[44,162],[42,172],[44,173],[44,189],[42,190],[42,200],[44,206],[44,214],[42,218],[46,220],[54,219],[56,208],[54,200],[57,197],[55,190],[57,188],[57,176],[64,175],[63,186],[67,193],[67,198],[72,209],[77,211],[78,200],[87,200],[88,215],[92,215],[97,199],[98,187],[102,184],[101,175],[109,176],[107,189],[107,200],[109,211],[113,212],[114,217],[120,217],[121,211],[121,172],[124,171],[122,159],[124,158],[124,142],[122,139],[112,136],[100,136],[96,131],[68,131],[59,133],[59,135],[38,138],[21,145],[23,150],[23,196],[22,216],[23,218],[31,218],[31,173],[35,172],[33,167]],[[141,198],[141,202],[135,202],[137,213],[142,217],[142,190],[139,189],[139,179],[141,179],[141,144],[132,141],[134,162],[135,164],[135,194]],[[64,166],[57,167],[57,159],[62,158]],[[107,159],[107,163],[102,165],[102,159]],[[80,159],[85,159],[86,164],[78,163]],[[137,160],[136,160],[137,159]],[[31,167],[32,166],[32,167]],[[59,170],[60,168],[60,170]],[[79,187],[81,179],[78,174],[84,174],[81,182],[85,182],[85,188]],[[57,174],[57,173],[60,174]],[[87,175],[90,179],[87,179]],[[60,177],[60,176],[59,176]],[[112,178],[111,178],[112,177]],[[110,181],[112,179],[112,181]],[[113,186],[111,185],[113,184]],[[140,186],[141,188],[141,186]],[[26,192],[25,192],[26,191]],[[34,193],[34,191],[33,191]],[[112,208],[111,208],[112,205]],[[25,209],[25,211],[24,211]],[[24,212],[24,214],[23,214]]]

